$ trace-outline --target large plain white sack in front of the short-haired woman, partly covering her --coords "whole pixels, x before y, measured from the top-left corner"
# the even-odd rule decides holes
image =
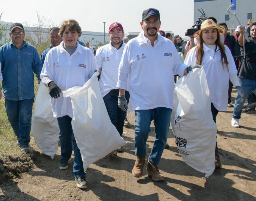
[[[84,171],[91,163],[126,144],[111,123],[100,93],[98,72],[82,86],[63,91],[73,108],[72,128],[80,149]]]

